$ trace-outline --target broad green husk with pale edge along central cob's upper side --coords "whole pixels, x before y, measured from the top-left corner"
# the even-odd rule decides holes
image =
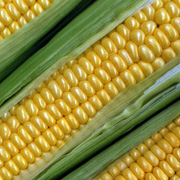
[[[127,16],[135,13],[146,2],[147,0],[99,0],[93,3],[62,29],[45,47],[2,81],[0,84],[0,105],[37,77],[37,80],[31,84],[31,88],[35,88],[39,79],[43,81],[60,65],[76,58]],[[23,41],[26,40],[23,39]],[[10,45],[12,46],[12,43]],[[39,77],[46,69],[48,69],[46,76]],[[21,98],[25,95],[27,93],[23,92]],[[11,103],[11,105],[13,104]]]

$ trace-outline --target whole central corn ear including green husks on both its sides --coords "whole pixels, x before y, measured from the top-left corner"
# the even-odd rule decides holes
[[[180,3],[146,3],[95,2],[2,81],[0,178],[62,178],[179,98]]]

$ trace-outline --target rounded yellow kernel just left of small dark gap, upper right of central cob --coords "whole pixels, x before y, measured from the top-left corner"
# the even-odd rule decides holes
[[[141,29],[146,36],[152,35],[157,28],[157,24],[154,21],[146,21],[141,25]]]

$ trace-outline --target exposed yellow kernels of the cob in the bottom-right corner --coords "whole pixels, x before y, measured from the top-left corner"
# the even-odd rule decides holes
[[[180,117],[124,155],[99,180],[178,180],[180,178]]]

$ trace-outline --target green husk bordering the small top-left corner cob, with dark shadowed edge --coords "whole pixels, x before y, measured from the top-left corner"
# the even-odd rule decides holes
[[[57,25],[79,3],[81,3],[81,6],[89,4],[89,2],[82,0],[56,0],[50,9],[1,41],[0,81],[44,45],[45,40],[41,40],[41,38],[45,38],[48,41],[51,37],[44,37],[46,33]],[[63,25],[65,24],[62,23],[60,25],[61,28]]]

